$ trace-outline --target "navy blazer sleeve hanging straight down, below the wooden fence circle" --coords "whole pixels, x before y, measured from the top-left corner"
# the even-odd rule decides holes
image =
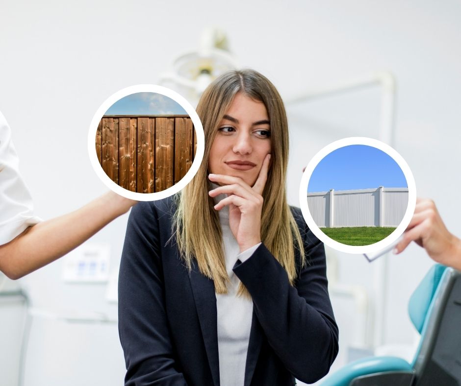
[[[153,203],[128,218],[119,273],[119,335],[125,385],[187,385],[177,368],[164,303],[158,216]]]

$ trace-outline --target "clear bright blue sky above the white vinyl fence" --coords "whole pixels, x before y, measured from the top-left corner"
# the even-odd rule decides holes
[[[402,169],[392,157],[372,146],[340,147],[320,161],[309,179],[307,192],[407,188]]]

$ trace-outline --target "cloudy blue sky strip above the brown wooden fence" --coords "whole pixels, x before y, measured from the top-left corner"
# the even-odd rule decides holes
[[[124,96],[105,115],[168,115],[187,114],[173,99],[157,93],[136,93]]]

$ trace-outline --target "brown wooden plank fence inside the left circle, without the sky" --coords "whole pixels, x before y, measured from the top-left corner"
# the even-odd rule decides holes
[[[197,148],[188,115],[103,116],[96,153],[104,172],[132,192],[165,190],[187,173]]]

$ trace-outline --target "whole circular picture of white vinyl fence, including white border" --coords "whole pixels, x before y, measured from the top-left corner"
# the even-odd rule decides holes
[[[321,241],[366,254],[402,235],[414,212],[416,189],[410,168],[392,147],[370,138],[346,138],[309,162],[300,202]]]

